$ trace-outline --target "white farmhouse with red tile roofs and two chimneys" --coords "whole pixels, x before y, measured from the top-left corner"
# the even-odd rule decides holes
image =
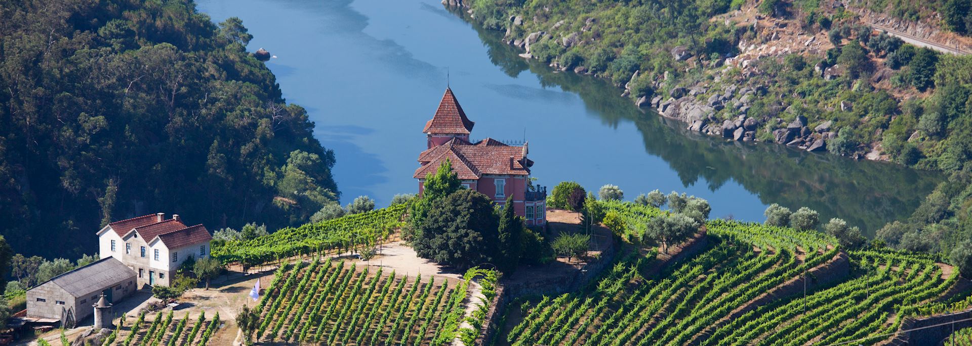
[[[183,262],[209,257],[213,238],[204,226],[186,226],[179,214],[165,219],[161,212],[110,223],[97,235],[101,258],[114,257],[135,270],[138,287],[168,286]]]

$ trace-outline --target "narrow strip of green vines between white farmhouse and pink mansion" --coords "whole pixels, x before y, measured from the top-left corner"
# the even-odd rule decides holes
[[[213,242],[211,254],[223,263],[263,264],[330,250],[362,249],[387,239],[401,227],[406,205],[351,214],[245,241]]]

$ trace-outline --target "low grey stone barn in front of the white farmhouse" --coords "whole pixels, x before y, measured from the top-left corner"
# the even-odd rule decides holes
[[[27,317],[52,318],[74,326],[94,312],[101,295],[109,303],[136,291],[135,271],[114,257],[54,276],[27,290]]]

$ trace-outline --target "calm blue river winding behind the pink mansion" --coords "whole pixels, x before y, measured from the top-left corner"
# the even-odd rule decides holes
[[[762,221],[768,204],[842,217],[873,236],[907,217],[938,173],[812,154],[771,143],[725,142],[639,110],[607,81],[527,61],[438,0],[199,0],[219,22],[243,19],[290,103],[316,123],[337,157],[347,204],[387,205],[414,193],[422,128],[450,85],[473,139],[530,142],[538,184],[615,184],[631,200],[659,189],[695,195],[713,217]]]

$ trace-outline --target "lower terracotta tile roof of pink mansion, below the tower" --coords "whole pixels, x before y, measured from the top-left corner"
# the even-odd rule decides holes
[[[425,178],[449,159],[452,171],[460,179],[478,179],[482,174],[512,174],[528,175],[533,161],[523,157],[523,147],[506,145],[491,139],[472,144],[459,139],[452,139],[442,145],[434,146],[419,154],[422,164],[412,175],[414,178]]]

